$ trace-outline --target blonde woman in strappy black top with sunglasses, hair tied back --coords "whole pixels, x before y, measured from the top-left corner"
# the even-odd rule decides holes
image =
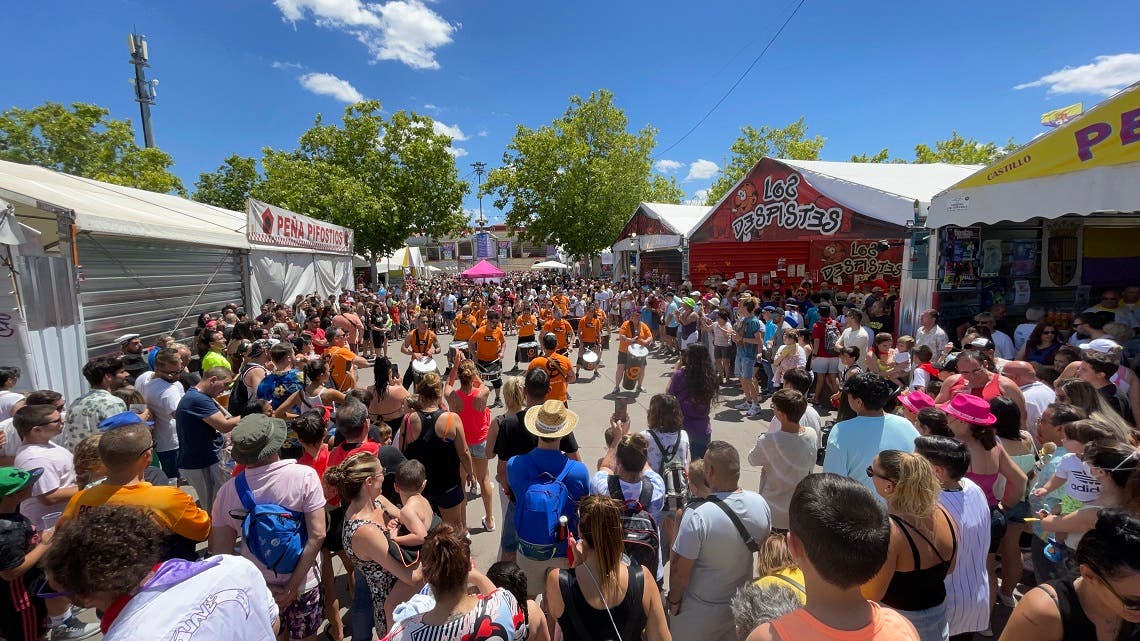
[[[890,547],[863,595],[898,610],[922,641],[948,639],[945,578],[958,558],[958,532],[938,502],[934,466],[918,454],[885,449],[866,474],[887,501]]]

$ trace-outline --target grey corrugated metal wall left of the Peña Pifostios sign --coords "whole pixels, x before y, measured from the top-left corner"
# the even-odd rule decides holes
[[[78,245],[89,357],[115,352],[115,338],[128,332],[144,344],[160,334],[189,338],[198,314],[246,298],[241,250],[92,234]]]

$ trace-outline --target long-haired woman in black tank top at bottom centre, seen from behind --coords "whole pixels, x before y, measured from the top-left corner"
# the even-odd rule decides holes
[[[546,575],[545,603],[567,641],[668,641],[669,626],[649,569],[621,562],[620,505],[589,494],[578,501],[573,567]]]

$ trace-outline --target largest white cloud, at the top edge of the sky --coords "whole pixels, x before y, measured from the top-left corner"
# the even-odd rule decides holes
[[[435,49],[451,42],[451,24],[420,0],[365,3],[360,0],[274,0],[284,18],[295,23],[312,15],[327,29],[352,34],[374,60],[398,60],[413,68],[439,68]]]

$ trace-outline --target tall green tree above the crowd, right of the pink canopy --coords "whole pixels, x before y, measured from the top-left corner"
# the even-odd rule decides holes
[[[650,178],[657,130],[627,130],[613,94],[571,96],[562,116],[538,129],[519,125],[490,171],[484,194],[529,242],[560,245],[577,257],[610,246],[642,198],[671,196]]]

